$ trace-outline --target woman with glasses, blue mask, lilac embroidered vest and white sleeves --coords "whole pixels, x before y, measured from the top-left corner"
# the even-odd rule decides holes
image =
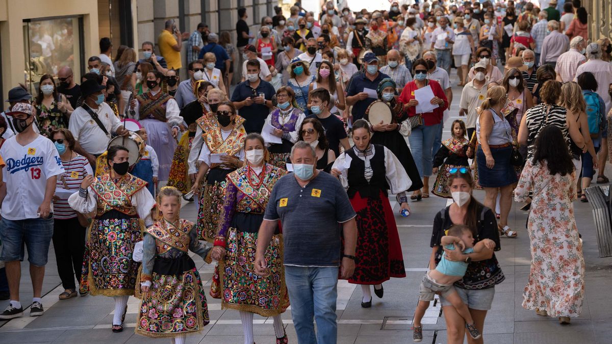
[[[297,130],[304,121],[304,111],[294,107],[296,94],[289,86],[282,86],[276,91],[277,109],[272,111],[267,118],[266,124],[275,127],[274,135],[283,140],[283,143],[269,143],[268,160],[274,166],[283,170],[287,169],[291,147],[297,142]]]

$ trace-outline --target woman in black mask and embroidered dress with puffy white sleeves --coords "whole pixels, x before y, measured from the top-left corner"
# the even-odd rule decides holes
[[[155,200],[146,182],[127,173],[127,148],[111,146],[107,152],[110,173],[96,179],[86,176],[68,203],[81,214],[95,211],[86,236],[81,290],[89,288],[92,295],[114,298],[113,332],[121,332],[127,299],[136,286],[138,263],[132,260],[132,252],[144,226],[153,223]]]

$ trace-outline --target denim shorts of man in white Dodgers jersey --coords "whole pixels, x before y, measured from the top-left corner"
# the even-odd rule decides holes
[[[53,216],[49,219],[7,220],[0,222],[2,261],[23,261],[24,244],[28,248],[28,261],[45,266],[49,245],[53,238]]]

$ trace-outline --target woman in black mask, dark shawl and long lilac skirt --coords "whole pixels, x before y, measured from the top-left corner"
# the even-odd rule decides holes
[[[133,102],[140,124],[147,130],[147,144],[151,146],[159,157],[159,172],[157,179],[167,181],[172,165],[174,149],[176,149],[176,136],[182,119],[179,117],[181,109],[170,94],[162,92],[161,83],[163,75],[157,70],[146,75],[149,91],[138,95]]]

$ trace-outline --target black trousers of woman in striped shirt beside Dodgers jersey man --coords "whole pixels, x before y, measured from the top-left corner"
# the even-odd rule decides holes
[[[85,250],[85,228],[78,219],[59,220],[53,223],[53,249],[58,263],[58,274],[64,289],[74,289],[75,277],[81,281],[81,267]]]

